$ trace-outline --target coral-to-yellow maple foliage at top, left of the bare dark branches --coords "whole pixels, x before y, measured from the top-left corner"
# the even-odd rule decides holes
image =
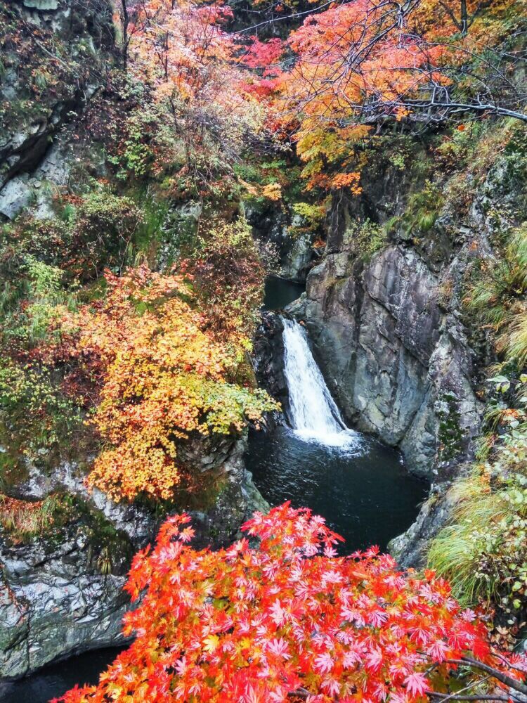
[[[394,22],[396,4],[353,0],[308,15],[289,36],[297,60],[282,77],[282,92],[285,114],[301,115],[294,138],[307,164],[308,188],[360,193],[354,147],[370,132],[368,115],[384,110],[401,119],[404,110],[392,103],[412,96],[431,77],[445,82],[429,68],[442,47],[402,38]],[[328,167],[344,172],[331,179]]]

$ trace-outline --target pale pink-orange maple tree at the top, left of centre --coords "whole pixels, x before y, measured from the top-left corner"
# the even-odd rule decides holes
[[[221,1],[142,0],[128,20],[131,70],[162,106],[201,187],[214,172],[215,147],[232,157],[247,133],[263,129],[263,106],[244,89],[238,43],[223,28],[232,18]]]

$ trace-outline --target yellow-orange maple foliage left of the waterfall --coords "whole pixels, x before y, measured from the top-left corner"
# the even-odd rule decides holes
[[[91,423],[105,448],[89,484],[117,501],[168,499],[181,478],[179,442],[193,432],[240,432],[276,406],[265,392],[229,382],[240,349],[207,331],[182,276],[141,266],[120,278],[107,273],[106,283],[103,299],[65,314],[60,346],[41,354],[73,363],[75,389],[83,374],[99,387]]]

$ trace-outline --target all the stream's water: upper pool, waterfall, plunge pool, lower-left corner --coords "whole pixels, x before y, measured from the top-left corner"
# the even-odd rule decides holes
[[[304,287],[268,278],[263,307],[278,310]],[[311,354],[306,330],[284,319],[287,424],[249,433],[247,468],[271,505],[292,501],[323,515],[346,542],[340,553],[389,540],[410,527],[427,484],[405,470],[400,453],[346,427]],[[28,678],[0,683],[1,703],[46,703],[75,683],[97,683],[117,648],[86,652]]]

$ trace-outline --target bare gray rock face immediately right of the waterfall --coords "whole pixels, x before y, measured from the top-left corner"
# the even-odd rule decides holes
[[[480,415],[468,344],[415,251],[386,247],[358,275],[351,254],[328,254],[289,312],[306,321],[346,417],[400,446],[410,470],[434,475],[445,399],[461,418],[457,455],[467,452]]]

